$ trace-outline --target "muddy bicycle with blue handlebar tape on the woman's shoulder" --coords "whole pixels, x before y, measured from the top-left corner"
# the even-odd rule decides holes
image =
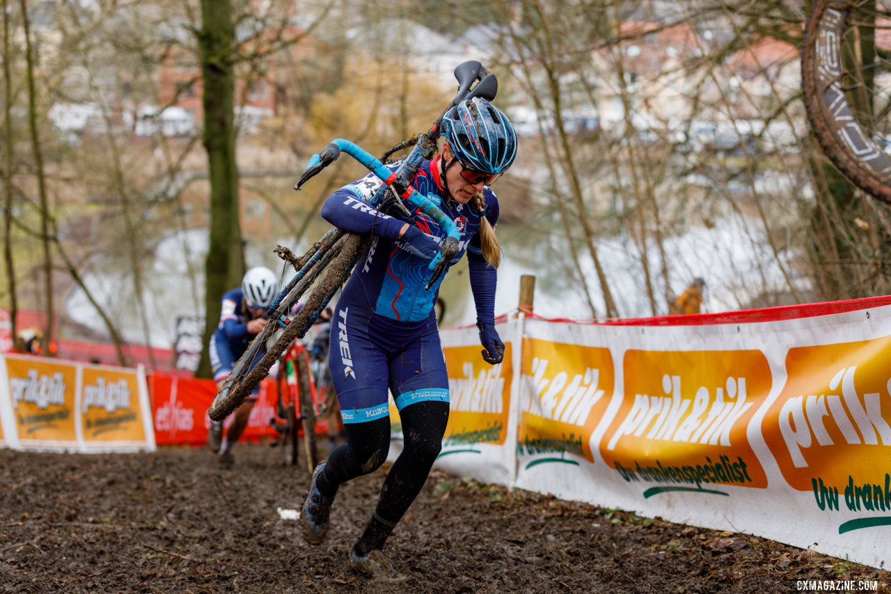
[[[428,132],[396,144],[384,153],[380,160],[348,140],[342,138],[334,140],[323,151],[313,155],[306,171],[294,186],[294,189],[299,189],[310,178],[336,161],[340,153],[347,153],[382,182],[380,188],[368,200],[367,208],[383,213],[390,209],[398,209],[411,216],[411,211],[406,207],[408,204],[412,209],[420,210],[435,220],[446,230],[447,236],[440,244],[437,257],[429,263],[431,276],[426,284],[427,290],[436,284],[449,261],[458,252],[461,234],[454,221],[439,210],[436,203],[419,194],[410,185],[410,181],[421,166],[421,162],[436,153],[439,128],[446,111],[474,97],[491,101],[495,99],[498,90],[495,75],[489,73],[479,62],[463,62],[454,70],[454,76],[458,81],[458,92]],[[411,152],[395,172],[385,167],[384,161],[388,161],[394,153],[409,146],[413,147]],[[370,241],[369,236],[349,234],[333,227],[302,257],[295,257],[286,248],[280,247],[276,250],[283,260],[289,261],[298,270],[298,273],[282,288],[282,292],[268,310],[270,323],[250,343],[248,350],[235,364],[232,374],[214,398],[208,410],[211,419],[222,420],[241,406],[241,402],[260,380],[266,377],[269,368],[291,342],[307,333],[334,294],[347,282],[356,266],[356,261],[364,254]],[[307,293],[308,297],[304,300],[303,307],[290,318],[291,308]],[[264,352],[263,347],[266,342],[282,328],[282,334]]]

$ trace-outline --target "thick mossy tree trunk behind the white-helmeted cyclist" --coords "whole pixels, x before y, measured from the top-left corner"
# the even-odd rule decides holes
[[[204,348],[196,375],[209,377],[208,345],[217,328],[223,293],[240,285],[244,274],[233,125],[231,0],[201,0],[198,42],[204,82],[204,147],[210,170],[210,245],[205,267]]]

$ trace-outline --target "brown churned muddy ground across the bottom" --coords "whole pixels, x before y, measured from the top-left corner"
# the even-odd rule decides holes
[[[771,540],[479,485],[434,472],[388,541],[402,582],[347,568],[386,466],[341,487],[308,546],[308,485],[282,451],[74,455],[0,450],[0,592],[794,592],[887,573]]]

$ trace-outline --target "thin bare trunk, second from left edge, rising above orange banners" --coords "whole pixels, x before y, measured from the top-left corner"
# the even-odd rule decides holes
[[[37,193],[40,197],[40,232],[44,243],[44,291],[46,294],[46,324],[42,340],[44,354],[51,355],[50,341],[53,338],[53,255],[50,253],[49,219],[50,210],[46,199],[44,177],[44,156],[40,150],[40,137],[37,133],[37,91],[34,85],[34,62],[37,56],[31,45],[31,30],[28,18],[27,0],[20,0],[21,22],[25,29],[25,62],[28,66],[28,124],[31,131],[31,147],[34,150],[34,164],[37,169]]]

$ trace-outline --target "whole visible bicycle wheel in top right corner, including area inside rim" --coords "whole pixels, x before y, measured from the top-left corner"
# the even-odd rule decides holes
[[[891,77],[891,43],[884,41],[891,35],[882,33],[889,28],[891,11],[881,1],[814,0],[801,77],[823,152],[854,186],[891,203],[891,96],[882,88]]]

